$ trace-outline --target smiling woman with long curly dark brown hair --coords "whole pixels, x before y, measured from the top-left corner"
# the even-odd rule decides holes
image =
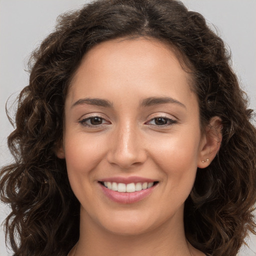
[[[222,40],[182,3],[63,15],[1,170],[14,255],[235,255],[255,230],[251,113]]]

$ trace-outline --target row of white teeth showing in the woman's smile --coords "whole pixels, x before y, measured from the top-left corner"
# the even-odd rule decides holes
[[[124,183],[104,181],[104,186],[113,191],[131,193],[131,192],[140,191],[142,189],[149,188],[153,186],[153,182],[143,182],[143,183],[138,182],[138,183],[124,184]]]

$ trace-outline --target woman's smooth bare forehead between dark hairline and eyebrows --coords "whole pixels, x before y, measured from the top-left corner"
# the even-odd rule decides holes
[[[152,38],[118,38],[93,46],[83,56],[69,95],[104,97],[114,89],[134,96],[142,88],[145,97],[165,96],[171,87],[173,96],[177,91],[189,96],[190,80],[170,45]]]

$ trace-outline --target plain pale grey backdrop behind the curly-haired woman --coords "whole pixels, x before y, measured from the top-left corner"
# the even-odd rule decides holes
[[[11,156],[6,137],[12,130],[5,115],[9,104],[27,84],[25,72],[29,53],[53,29],[56,17],[67,10],[78,8],[85,0],[0,0],[0,166]],[[250,107],[256,109],[256,0],[183,0],[189,9],[203,14],[209,24],[232,52],[233,69],[241,86],[248,93]],[[211,25],[212,26],[212,25]],[[212,26],[213,29],[215,29]],[[8,208],[0,204],[0,223]],[[247,240],[239,256],[256,255],[256,237]],[[0,256],[11,255],[4,244],[0,227]]]

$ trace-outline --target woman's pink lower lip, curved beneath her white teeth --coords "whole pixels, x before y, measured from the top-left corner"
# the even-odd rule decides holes
[[[118,192],[118,191],[113,191],[111,189],[108,189],[104,185],[100,184],[101,189],[103,193],[112,201],[118,202],[118,203],[123,203],[123,204],[128,204],[128,203],[135,203],[138,201],[141,201],[144,199],[146,196],[148,196],[153,189],[155,188],[157,184],[146,188],[142,189],[140,191],[135,191],[135,192]]]

